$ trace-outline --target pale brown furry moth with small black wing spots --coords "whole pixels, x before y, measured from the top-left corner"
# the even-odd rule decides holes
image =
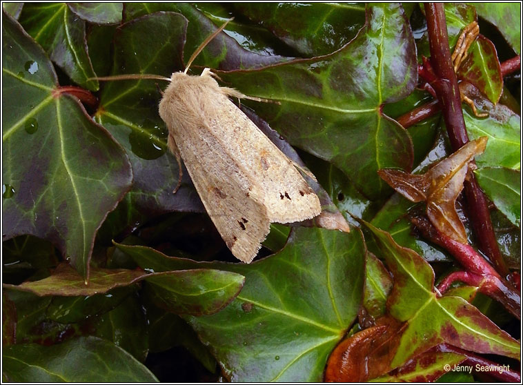
[[[310,219],[322,208],[293,161],[229,99],[246,96],[220,87],[209,68],[200,76],[187,74],[195,57],[225,26],[201,43],[184,72],[175,72],[170,79],[146,76],[170,80],[159,103],[159,115],[169,132],[168,148],[178,161],[184,160],[230,251],[249,263],[271,222]],[[99,79],[116,78],[129,79],[127,75]]]

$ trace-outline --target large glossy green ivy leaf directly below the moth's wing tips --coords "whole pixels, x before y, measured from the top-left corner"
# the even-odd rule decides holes
[[[279,253],[249,265],[197,263],[144,246],[118,247],[142,268],[197,264],[246,277],[224,310],[186,317],[231,381],[321,380],[328,354],[362,300],[365,246],[358,230],[297,228]]]

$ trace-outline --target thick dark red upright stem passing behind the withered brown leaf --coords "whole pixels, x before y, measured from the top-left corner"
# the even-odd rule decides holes
[[[461,106],[460,88],[451,59],[451,49],[448,46],[445,11],[442,3],[425,3],[428,41],[431,48],[431,64],[435,75],[439,78],[431,83],[442,106],[442,115],[454,151],[466,142],[468,135]],[[497,246],[489,207],[475,176],[464,183],[468,215],[480,245],[481,250],[489,256],[497,271],[507,277],[509,268]]]

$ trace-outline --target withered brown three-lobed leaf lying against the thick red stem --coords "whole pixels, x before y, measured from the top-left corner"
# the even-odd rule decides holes
[[[426,201],[426,213],[432,224],[448,237],[466,244],[465,228],[457,215],[455,201],[463,188],[468,164],[485,150],[486,141],[487,137],[469,141],[422,175],[393,169],[378,170],[378,174],[407,199]]]

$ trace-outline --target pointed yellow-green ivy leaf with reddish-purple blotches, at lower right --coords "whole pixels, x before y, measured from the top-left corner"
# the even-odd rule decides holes
[[[461,297],[437,297],[433,291],[434,272],[419,255],[397,245],[388,233],[371,224],[366,226],[394,276],[388,311],[398,321],[406,322],[391,369],[443,342],[476,353],[519,357],[519,342],[477,308]]]

